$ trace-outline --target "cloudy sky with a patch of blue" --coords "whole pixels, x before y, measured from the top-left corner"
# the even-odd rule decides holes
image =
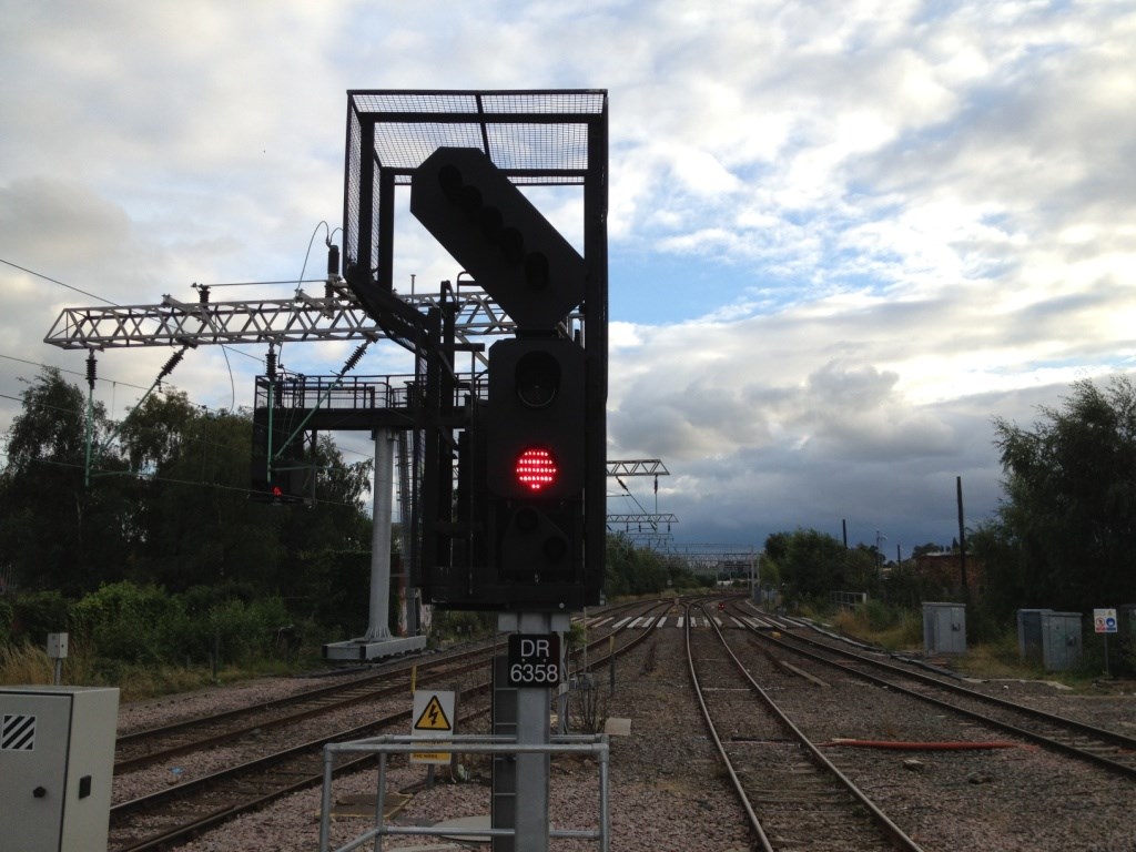
[[[609,510],[673,512],[679,543],[846,521],[889,557],[949,544],[955,477],[970,526],[1001,496],[994,416],[1136,370],[1129,0],[0,0],[0,431],[39,365],[85,387],[84,353],[43,343],[65,307],[285,298],[314,235],[318,275],[350,89],[609,90],[608,457],[671,474],[658,498],[612,482]],[[419,290],[457,274],[400,264]],[[169,354],[101,354],[99,399],[124,416]],[[199,349],[172,383],[247,406],[262,358]]]

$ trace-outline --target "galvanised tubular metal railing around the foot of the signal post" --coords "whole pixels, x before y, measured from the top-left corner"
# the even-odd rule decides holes
[[[386,825],[383,811],[386,796],[386,759],[391,754],[410,754],[429,749],[431,745],[444,746],[444,750],[456,754],[577,754],[592,755],[599,763],[600,801],[599,827],[595,829],[549,829],[549,837],[571,837],[596,841],[601,852],[610,852],[611,826],[608,803],[608,753],[607,735],[560,735],[553,736],[548,743],[518,743],[512,737],[492,736],[488,734],[409,736],[385,734],[383,736],[357,740],[346,743],[329,743],[324,746],[324,788],[319,815],[319,852],[350,852],[370,841],[374,849],[383,849],[383,837],[386,835],[427,835],[445,836],[457,832],[470,834],[469,829],[454,829],[452,826],[393,826]],[[335,759],[339,754],[376,754],[378,757],[377,795],[375,800],[375,827],[354,840],[331,850],[331,813],[332,783],[335,772]],[[475,834],[485,837],[515,837],[513,828],[477,828]]]

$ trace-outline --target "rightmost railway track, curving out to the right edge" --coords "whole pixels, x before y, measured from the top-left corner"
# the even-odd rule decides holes
[[[860,678],[909,695],[935,708],[966,716],[980,725],[1035,743],[1054,752],[1103,767],[1136,780],[1136,738],[1126,734],[1045,712],[972,690],[949,677],[893,662],[879,653],[841,648],[804,635],[800,627],[778,623],[763,613],[732,609],[761,642],[780,652],[822,665],[830,671]],[[761,619],[761,620],[754,620]],[[772,635],[771,625],[783,629]]]

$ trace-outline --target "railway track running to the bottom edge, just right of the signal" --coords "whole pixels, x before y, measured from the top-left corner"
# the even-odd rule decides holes
[[[790,849],[919,850],[777,707],[712,630],[691,629],[691,679],[730,784],[763,852]]]

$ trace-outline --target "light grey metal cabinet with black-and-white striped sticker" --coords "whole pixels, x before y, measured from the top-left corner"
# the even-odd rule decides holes
[[[118,690],[0,686],[0,845],[106,852]]]

